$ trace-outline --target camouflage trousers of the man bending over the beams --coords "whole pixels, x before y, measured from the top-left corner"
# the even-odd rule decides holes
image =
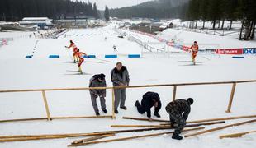
[[[171,125],[175,128],[174,133],[180,134],[186,125],[186,120],[181,113],[177,113],[175,110],[169,108],[169,106],[165,109],[169,114]]]

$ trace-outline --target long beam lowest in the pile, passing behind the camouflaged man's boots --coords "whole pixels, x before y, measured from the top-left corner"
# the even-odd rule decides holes
[[[197,127],[197,128],[191,128],[191,129],[185,129],[183,132],[188,132],[188,131],[193,131],[193,130],[201,130],[204,129],[204,127]],[[126,141],[130,139],[138,139],[138,138],[145,138],[149,136],[160,136],[160,135],[165,135],[165,134],[171,134],[173,132],[160,132],[160,133],[155,133],[155,134],[147,134],[147,135],[142,135],[142,136],[127,136],[123,138],[116,138],[116,139],[111,139],[107,141],[89,141],[81,144],[80,146],[85,146],[85,145],[91,145],[91,144],[97,144],[97,143],[107,143],[107,142],[112,142],[112,141]],[[68,146],[73,146],[73,145],[68,145]]]

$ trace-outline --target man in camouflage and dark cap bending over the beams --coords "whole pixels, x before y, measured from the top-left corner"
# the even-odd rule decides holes
[[[192,98],[186,99],[176,99],[170,102],[166,106],[166,111],[170,116],[171,127],[175,128],[172,138],[176,140],[182,140],[183,137],[179,134],[183,131],[186,125],[188,115],[190,113],[190,106],[193,104],[194,100]]]

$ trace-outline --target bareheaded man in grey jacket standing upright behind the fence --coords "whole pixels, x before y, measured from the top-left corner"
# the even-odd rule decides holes
[[[129,72],[125,66],[122,65],[121,62],[116,63],[116,67],[111,70],[111,81],[113,86],[129,86],[130,78]],[[125,102],[126,102],[126,89],[115,89],[115,113],[118,113],[118,106],[120,104],[120,108],[126,110]]]

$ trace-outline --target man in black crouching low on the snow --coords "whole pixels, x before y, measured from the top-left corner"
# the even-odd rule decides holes
[[[158,93],[155,92],[147,92],[145,93],[145,95],[143,95],[143,98],[141,100],[141,104],[140,102],[137,100],[135,102],[135,106],[138,109],[138,112],[143,114],[143,113],[147,113],[147,117],[149,118],[149,120],[151,121],[151,108],[154,106],[154,116],[160,118],[161,116],[159,115],[159,110],[162,107],[161,101],[160,101],[160,97]]]

